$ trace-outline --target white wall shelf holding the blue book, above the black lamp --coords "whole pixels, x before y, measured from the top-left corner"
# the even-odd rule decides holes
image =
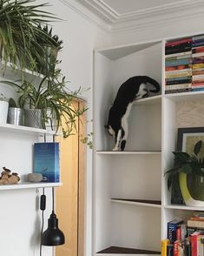
[[[16,190],[16,189],[27,189],[27,188],[42,188],[42,187],[53,187],[63,185],[62,182],[23,182],[15,185],[0,185],[0,191],[4,190]]]

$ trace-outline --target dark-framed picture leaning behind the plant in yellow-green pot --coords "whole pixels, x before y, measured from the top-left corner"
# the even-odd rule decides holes
[[[199,140],[204,142],[204,127],[179,128],[177,150],[194,155],[194,145]]]

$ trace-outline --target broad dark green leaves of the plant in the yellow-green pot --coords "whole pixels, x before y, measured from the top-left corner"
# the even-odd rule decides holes
[[[187,152],[173,152],[174,167],[165,172],[168,174],[168,189],[172,185],[174,176],[179,172],[204,176],[204,158],[200,156],[202,145],[201,140],[194,145],[194,155],[189,155]]]

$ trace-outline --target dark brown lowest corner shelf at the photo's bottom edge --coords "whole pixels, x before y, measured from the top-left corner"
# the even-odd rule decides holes
[[[125,248],[125,247],[117,247],[111,246],[107,249],[104,249],[98,253],[121,253],[121,254],[161,254],[161,252],[156,251],[148,251],[134,248]]]

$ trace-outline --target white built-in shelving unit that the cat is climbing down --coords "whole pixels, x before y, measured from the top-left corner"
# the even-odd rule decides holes
[[[204,91],[164,94],[165,43],[95,51],[94,254],[159,254],[168,221],[204,211],[170,204],[164,173],[173,164],[178,128],[204,126]],[[109,107],[119,86],[136,75],[155,78],[161,92],[135,102],[125,152],[111,152],[114,138],[104,129]]]

